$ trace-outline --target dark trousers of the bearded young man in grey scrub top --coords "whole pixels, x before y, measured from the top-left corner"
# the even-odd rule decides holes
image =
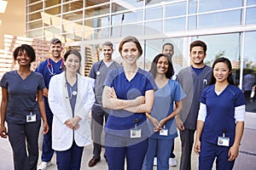
[[[191,169],[191,151],[194,144],[195,130],[185,128],[180,132],[180,139],[182,143],[182,154],[180,159],[180,170]]]

